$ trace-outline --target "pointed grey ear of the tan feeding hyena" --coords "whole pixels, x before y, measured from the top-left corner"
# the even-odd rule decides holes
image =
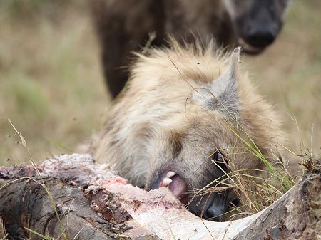
[[[239,62],[241,48],[235,48],[230,56],[230,67],[219,78],[193,93],[195,99],[206,110],[218,110],[225,116],[237,115],[240,108],[238,94]]]

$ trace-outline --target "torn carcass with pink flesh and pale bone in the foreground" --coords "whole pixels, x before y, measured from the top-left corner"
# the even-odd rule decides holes
[[[169,189],[146,192],[94,165],[89,155],[61,155],[39,165],[0,167],[0,217],[12,239],[39,239],[24,227],[68,239],[320,239],[321,171],[314,170],[258,214],[228,222],[205,221]],[[13,179],[29,176],[33,179]],[[4,184],[6,184],[4,186]],[[3,187],[4,186],[4,187]],[[96,213],[94,211],[96,211]],[[67,224],[68,223],[68,224]]]

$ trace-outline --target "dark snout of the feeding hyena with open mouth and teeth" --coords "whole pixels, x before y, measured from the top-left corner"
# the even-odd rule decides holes
[[[207,152],[207,151],[204,151]],[[210,151],[205,160],[197,167],[197,171],[190,168],[190,161],[184,161],[186,156],[175,160],[178,163],[165,165],[152,172],[146,189],[166,187],[177,197],[190,212],[210,221],[225,221],[226,212],[230,207],[238,206],[239,199],[233,189],[222,192],[218,188],[225,187],[220,183],[227,182],[228,161],[224,160],[219,151]],[[161,173],[161,174],[158,174]]]

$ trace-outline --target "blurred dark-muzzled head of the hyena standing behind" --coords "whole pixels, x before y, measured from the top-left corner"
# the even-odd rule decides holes
[[[260,53],[277,37],[290,0],[223,0],[238,43],[248,53]]]

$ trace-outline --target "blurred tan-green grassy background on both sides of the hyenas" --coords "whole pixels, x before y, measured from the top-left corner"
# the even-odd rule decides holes
[[[321,147],[321,1],[292,1],[275,43],[243,65],[297,154]],[[0,0],[0,165],[76,151],[111,98],[86,0]],[[292,161],[296,158],[288,156]]]

